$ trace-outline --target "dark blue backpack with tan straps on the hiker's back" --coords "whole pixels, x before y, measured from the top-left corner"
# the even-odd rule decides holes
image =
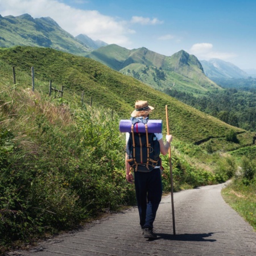
[[[131,169],[140,172],[150,172],[155,166],[160,166],[160,144],[154,133],[147,132],[147,118],[131,117],[131,132],[126,145],[127,162]],[[136,126],[142,122],[146,133],[137,133]]]

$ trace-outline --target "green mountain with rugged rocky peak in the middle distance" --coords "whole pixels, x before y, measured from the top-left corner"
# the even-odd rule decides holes
[[[205,76],[196,56],[181,50],[164,56],[142,47],[126,49],[116,44],[98,48],[86,55],[91,59],[152,86],[158,90],[176,89],[196,94],[222,89]]]

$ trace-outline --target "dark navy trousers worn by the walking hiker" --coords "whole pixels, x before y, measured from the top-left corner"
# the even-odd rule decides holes
[[[142,228],[152,229],[163,192],[160,168],[151,172],[134,172],[134,184],[139,210],[139,224]]]

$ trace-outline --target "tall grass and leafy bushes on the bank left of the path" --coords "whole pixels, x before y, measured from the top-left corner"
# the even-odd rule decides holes
[[[115,113],[88,105],[74,111],[18,88],[1,98],[0,246],[135,203]]]

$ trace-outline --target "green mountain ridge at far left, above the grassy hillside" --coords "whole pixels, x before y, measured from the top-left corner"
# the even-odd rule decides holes
[[[86,46],[63,30],[55,20],[20,16],[0,15],[0,47],[39,46],[84,56],[93,48]]]

